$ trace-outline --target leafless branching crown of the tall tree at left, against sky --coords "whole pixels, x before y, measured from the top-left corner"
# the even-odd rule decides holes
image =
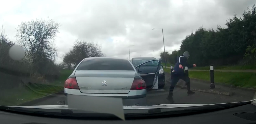
[[[54,47],[53,40],[58,33],[59,26],[53,20],[36,19],[22,22],[18,25],[16,37],[26,51],[30,51],[34,60],[46,57],[54,61],[57,49]]]

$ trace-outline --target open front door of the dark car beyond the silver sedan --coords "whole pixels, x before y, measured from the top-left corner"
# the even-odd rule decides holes
[[[151,89],[155,86],[158,81],[159,69],[161,68],[162,59],[153,59],[139,64],[135,67],[139,75],[143,78],[146,83],[147,89]],[[151,65],[150,63],[157,63]]]

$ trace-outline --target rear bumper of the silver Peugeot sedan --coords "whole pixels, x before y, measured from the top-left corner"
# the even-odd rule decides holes
[[[81,93],[80,90],[64,88],[65,103],[67,103],[67,97],[69,95],[80,95],[80,96],[105,96],[122,98],[123,105],[146,105],[146,92],[147,90],[131,90],[128,94],[87,94]]]

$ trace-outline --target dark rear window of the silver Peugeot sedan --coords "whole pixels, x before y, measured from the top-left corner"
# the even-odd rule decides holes
[[[124,59],[85,59],[77,70],[134,70]]]

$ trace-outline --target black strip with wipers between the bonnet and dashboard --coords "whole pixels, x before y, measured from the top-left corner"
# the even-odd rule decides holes
[[[209,104],[209,105],[201,105],[201,106],[188,106],[188,107],[166,107],[166,108],[155,108],[155,109],[146,109],[143,113],[125,113],[125,118],[135,118],[135,117],[157,117],[157,116],[179,116],[185,114],[196,114],[196,113],[205,113],[212,112],[222,109],[228,109],[232,107],[237,107],[245,104],[249,104],[251,101],[245,102],[236,102],[236,103],[223,103],[223,104]],[[50,117],[83,117],[83,118],[102,118],[102,119],[120,119],[114,114],[106,114],[106,113],[95,113],[88,112],[85,110],[79,109],[37,109],[37,108],[20,108],[20,107],[8,107],[8,106],[0,106],[2,111],[13,112],[13,113],[21,113],[21,114],[31,114],[37,116],[50,116]]]

